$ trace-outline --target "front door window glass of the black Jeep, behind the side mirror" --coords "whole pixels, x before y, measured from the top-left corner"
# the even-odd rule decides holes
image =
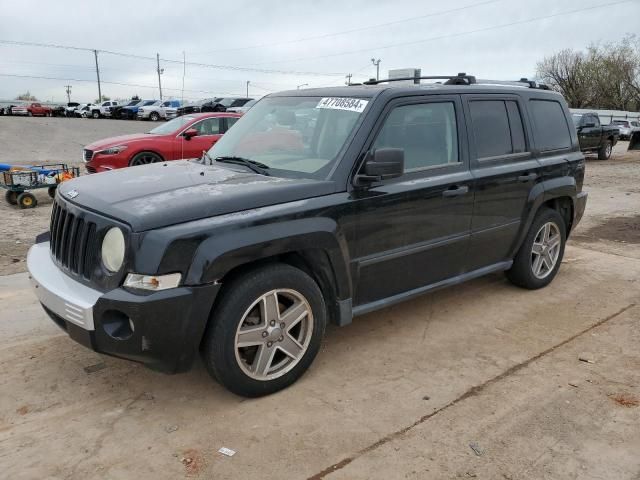
[[[394,108],[373,147],[404,149],[405,172],[458,163],[458,129],[453,102]]]

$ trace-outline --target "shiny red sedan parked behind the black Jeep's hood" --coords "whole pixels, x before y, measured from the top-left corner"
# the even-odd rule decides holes
[[[238,113],[194,113],[174,118],[149,133],[94,142],[83,150],[87,172],[200,158],[202,151],[209,150],[240,117]]]

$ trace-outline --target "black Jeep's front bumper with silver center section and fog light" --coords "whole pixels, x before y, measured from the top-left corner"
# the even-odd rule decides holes
[[[51,258],[49,242],[31,247],[27,267],[46,313],[73,340],[165,373],[191,366],[220,288],[101,292],[63,273]]]

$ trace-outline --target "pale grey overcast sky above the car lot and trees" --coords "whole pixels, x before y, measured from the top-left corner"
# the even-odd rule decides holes
[[[186,66],[185,98],[244,94],[246,81],[259,97],[341,85],[348,73],[375,77],[372,57],[381,77],[393,68],[533,77],[545,55],[618,41],[638,32],[638,19],[640,0],[0,0],[0,40],[101,50],[102,93],[112,98],[158,98],[156,65],[105,51],[168,60],[185,52],[187,62],[279,71]],[[180,98],[182,65],[161,67],[164,96]],[[0,99],[29,90],[66,101],[66,84],[72,100],[97,98],[92,52],[0,43]]]

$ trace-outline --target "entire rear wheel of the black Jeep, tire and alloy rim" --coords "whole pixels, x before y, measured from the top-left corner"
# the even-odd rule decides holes
[[[511,283],[530,290],[546,287],[558,273],[566,239],[562,215],[543,207],[533,220],[511,269],[507,271],[507,278]]]

